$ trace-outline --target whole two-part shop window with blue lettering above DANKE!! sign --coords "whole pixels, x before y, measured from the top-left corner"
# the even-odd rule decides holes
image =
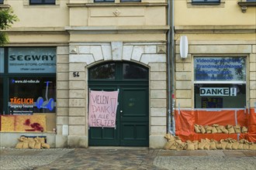
[[[195,108],[246,106],[245,57],[194,58]]]

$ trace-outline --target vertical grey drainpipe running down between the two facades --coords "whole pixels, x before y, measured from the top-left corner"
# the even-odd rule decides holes
[[[174,111],[174,0],[168,0],[168,133],[175,135]]]

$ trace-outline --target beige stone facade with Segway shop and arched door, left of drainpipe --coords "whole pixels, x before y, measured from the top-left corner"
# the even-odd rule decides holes
[[[18,16],[1,48],[1,145],[161,148],[167,131],[165,0],[4,0]],[[119,90],[116,128],[89,128],[91,90]],[[31,114],[31,115],[27,115]]]

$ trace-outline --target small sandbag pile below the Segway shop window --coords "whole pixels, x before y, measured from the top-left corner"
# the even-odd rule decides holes
[[[50,148],[50,145],[45,143],[44,138],[26,138],[24,136],[18,138],[19,143],[16,145],[16,148]]]

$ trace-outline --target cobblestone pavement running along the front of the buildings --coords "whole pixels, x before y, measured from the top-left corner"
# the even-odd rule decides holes
[[[165,151],[148,148],[0,149],[0,169],[250,169],[256,151]]]

